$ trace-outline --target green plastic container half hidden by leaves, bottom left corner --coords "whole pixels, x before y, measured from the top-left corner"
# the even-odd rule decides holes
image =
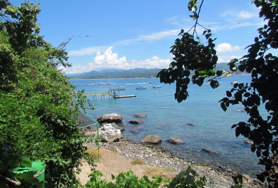
[[[24,172],[27,171],[37,171],[37,173],[33,176],[34,178],[37,178],[40,182],[43,181],[43,185],[40,186],[40,188],[44,188],[44,182],[45,182],[45,167],[43,162],[41,161],[32,161],[32,167],[31,168],[27,168],[27,167],[18,167],[18,168],[14,168],[12,171],[13,173],[16,174],[22,174]]]

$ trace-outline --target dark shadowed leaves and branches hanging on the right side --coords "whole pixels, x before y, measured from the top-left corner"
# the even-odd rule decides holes
[[[204,28],[202,35],[206,39],[203,43],[196,32],[199,13],[204,0],[197,7],[197,0],[190,0],[188,9],[193,12],[191,18],[196,20],[195,25],[188,31],[182,29],[171,46],[174,61],[168,69],[161,70],[157,77],[160,82],[174,83],[176,81],[175,99],[178,102],[186,100],[189,96],[187,85],[190,83],[189,71],[194,70],[191,78],[193,84],[202,86],[204,79],[215,89],[219,86],[218,79],[230,76],[225,70],[216,71],[217,52],[210,29]],[[248,53],[241,59],[232,59],[228,65],[233,71],[246,71],[251,74],[250,83],[236,83],[231,90],[226,91],[226,97],[220,102],[221,108],[226,111],[229,105],[243,104],[249,115],[247,122],[241,121],[232,125],[236,136],[242,135],[253,141],[251,151],[256,152],[260,165],[265,166],[265,171],[258,174],[257,178],[264,181],[267,178],[270,187],[278,186],[278,163],[273,160],[278,148],[278,58],[276,54],[268,53],[269,49],[278,47],[278,2],[273,0],[253,0],[252,3],[260,8],[259,17],[268,21],[259,28],[258,36],[254,42],[247,46]],[[191,31],[193,30],[193,31]],[[191,33],[190,33],[191,31]],[[258,106],[264,105],[269,116],[264,119],[260,116]]]

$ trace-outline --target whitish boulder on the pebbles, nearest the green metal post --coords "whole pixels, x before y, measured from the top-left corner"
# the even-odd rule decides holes
[[[121,131],[108,123],[100,128],[99,136],[102,142],[118,142],[121,138]]]

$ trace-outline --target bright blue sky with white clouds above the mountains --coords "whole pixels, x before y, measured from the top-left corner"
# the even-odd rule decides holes
[[[23,1],[10,0],[18,6]],[[66,73],[109,68],[167,68],[170,46],[181,29],[195,23],[189,17],[188,0],[31,0],[40,3],[40,34],[57,46],[67,45],[72,67]],[[247,53],[256,30],[264,25],[251,0],[205,0],[198,22],[213,30],[218,63]],[[197,28],[201,36],[204,29]]]

